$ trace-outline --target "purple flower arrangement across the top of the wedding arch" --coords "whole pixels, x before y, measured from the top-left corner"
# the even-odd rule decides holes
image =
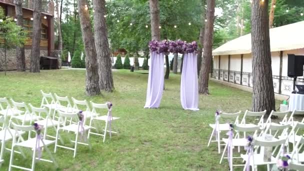
[[[180,39],[176,41],[172,40],[162,40],[156,41],[152,40],[149,42],[150,51],[156,51],[157,53],[192,53],[197,49],[197,43],[192,41],[191,43],[187,43],[186,41],[182,41]]]

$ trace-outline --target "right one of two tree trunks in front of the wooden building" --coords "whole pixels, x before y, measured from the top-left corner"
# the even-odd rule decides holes
[[[30,72],[40,72],[41,0],[33,1],[32,45]]]

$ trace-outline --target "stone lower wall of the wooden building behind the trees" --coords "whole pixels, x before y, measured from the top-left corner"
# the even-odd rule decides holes
[[[29,69],[30,62],[30,51],[31,49],[25,49],[25,67]],[[40,50],[40,56],[47,56],[47,50]],[[4,62],[4,49],[0,48],[0,71],[4,70],[5,62]],[[16,70],[17,69],[17,61],[16,61],[16,49],[6,50],[6,61],[7,61],[7,70]]]

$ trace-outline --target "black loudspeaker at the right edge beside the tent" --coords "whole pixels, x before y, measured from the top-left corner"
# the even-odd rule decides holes
[[[287,75],[289,77],[303,76],[304,56],[288,54]]]

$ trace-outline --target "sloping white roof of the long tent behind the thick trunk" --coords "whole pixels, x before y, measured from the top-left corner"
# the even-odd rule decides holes
[[[304,21],[269,29],[270,51],[304,48]],[[213,55],[251,53],[251,34],[235,38],[212,51]]]

